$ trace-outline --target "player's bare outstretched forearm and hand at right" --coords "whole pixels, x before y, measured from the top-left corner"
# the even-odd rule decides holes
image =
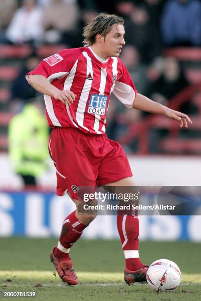
[[[133,102],[133,108],[149,113],[161,114],[168,118],[178,120],[180,122],[180,127],[188,127],[188,123],[192,124],[192,121],[188,117],[188,115],[178,111],[174,111],[160,103],[149,99],[148,97],[140,93],[136,93]]]

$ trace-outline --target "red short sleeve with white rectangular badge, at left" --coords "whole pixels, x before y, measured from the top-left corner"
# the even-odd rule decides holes
[[[51,75],[60,72],[69,72],[72,66],[73,60],[71,59],[68,50],[62,50],[44,60],[27,75],[43,75],[49,78]]]

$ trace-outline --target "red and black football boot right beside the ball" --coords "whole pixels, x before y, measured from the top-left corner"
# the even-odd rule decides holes
[[[133,284],[134,282],[143,282],[146,281],[146,272],[148,266],[144,265],[141,269],[137,271],[130,271],[128,269],[124,270],[124,280],[128,285]]]

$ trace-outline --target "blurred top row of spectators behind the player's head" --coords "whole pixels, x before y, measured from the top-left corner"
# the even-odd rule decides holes
[[[201,46],[200,0],[0,0],[0,42],[80,47],[83,26],[101,11],[124,17],[127,44],[145,62],[162,46]]]

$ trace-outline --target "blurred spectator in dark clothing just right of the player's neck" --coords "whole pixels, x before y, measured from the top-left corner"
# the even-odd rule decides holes
[[[132,45],[125,45],[120,58],[128,69],[138,92],[146,95],[148,86],[146,67],[141,63],[138,50]]]

